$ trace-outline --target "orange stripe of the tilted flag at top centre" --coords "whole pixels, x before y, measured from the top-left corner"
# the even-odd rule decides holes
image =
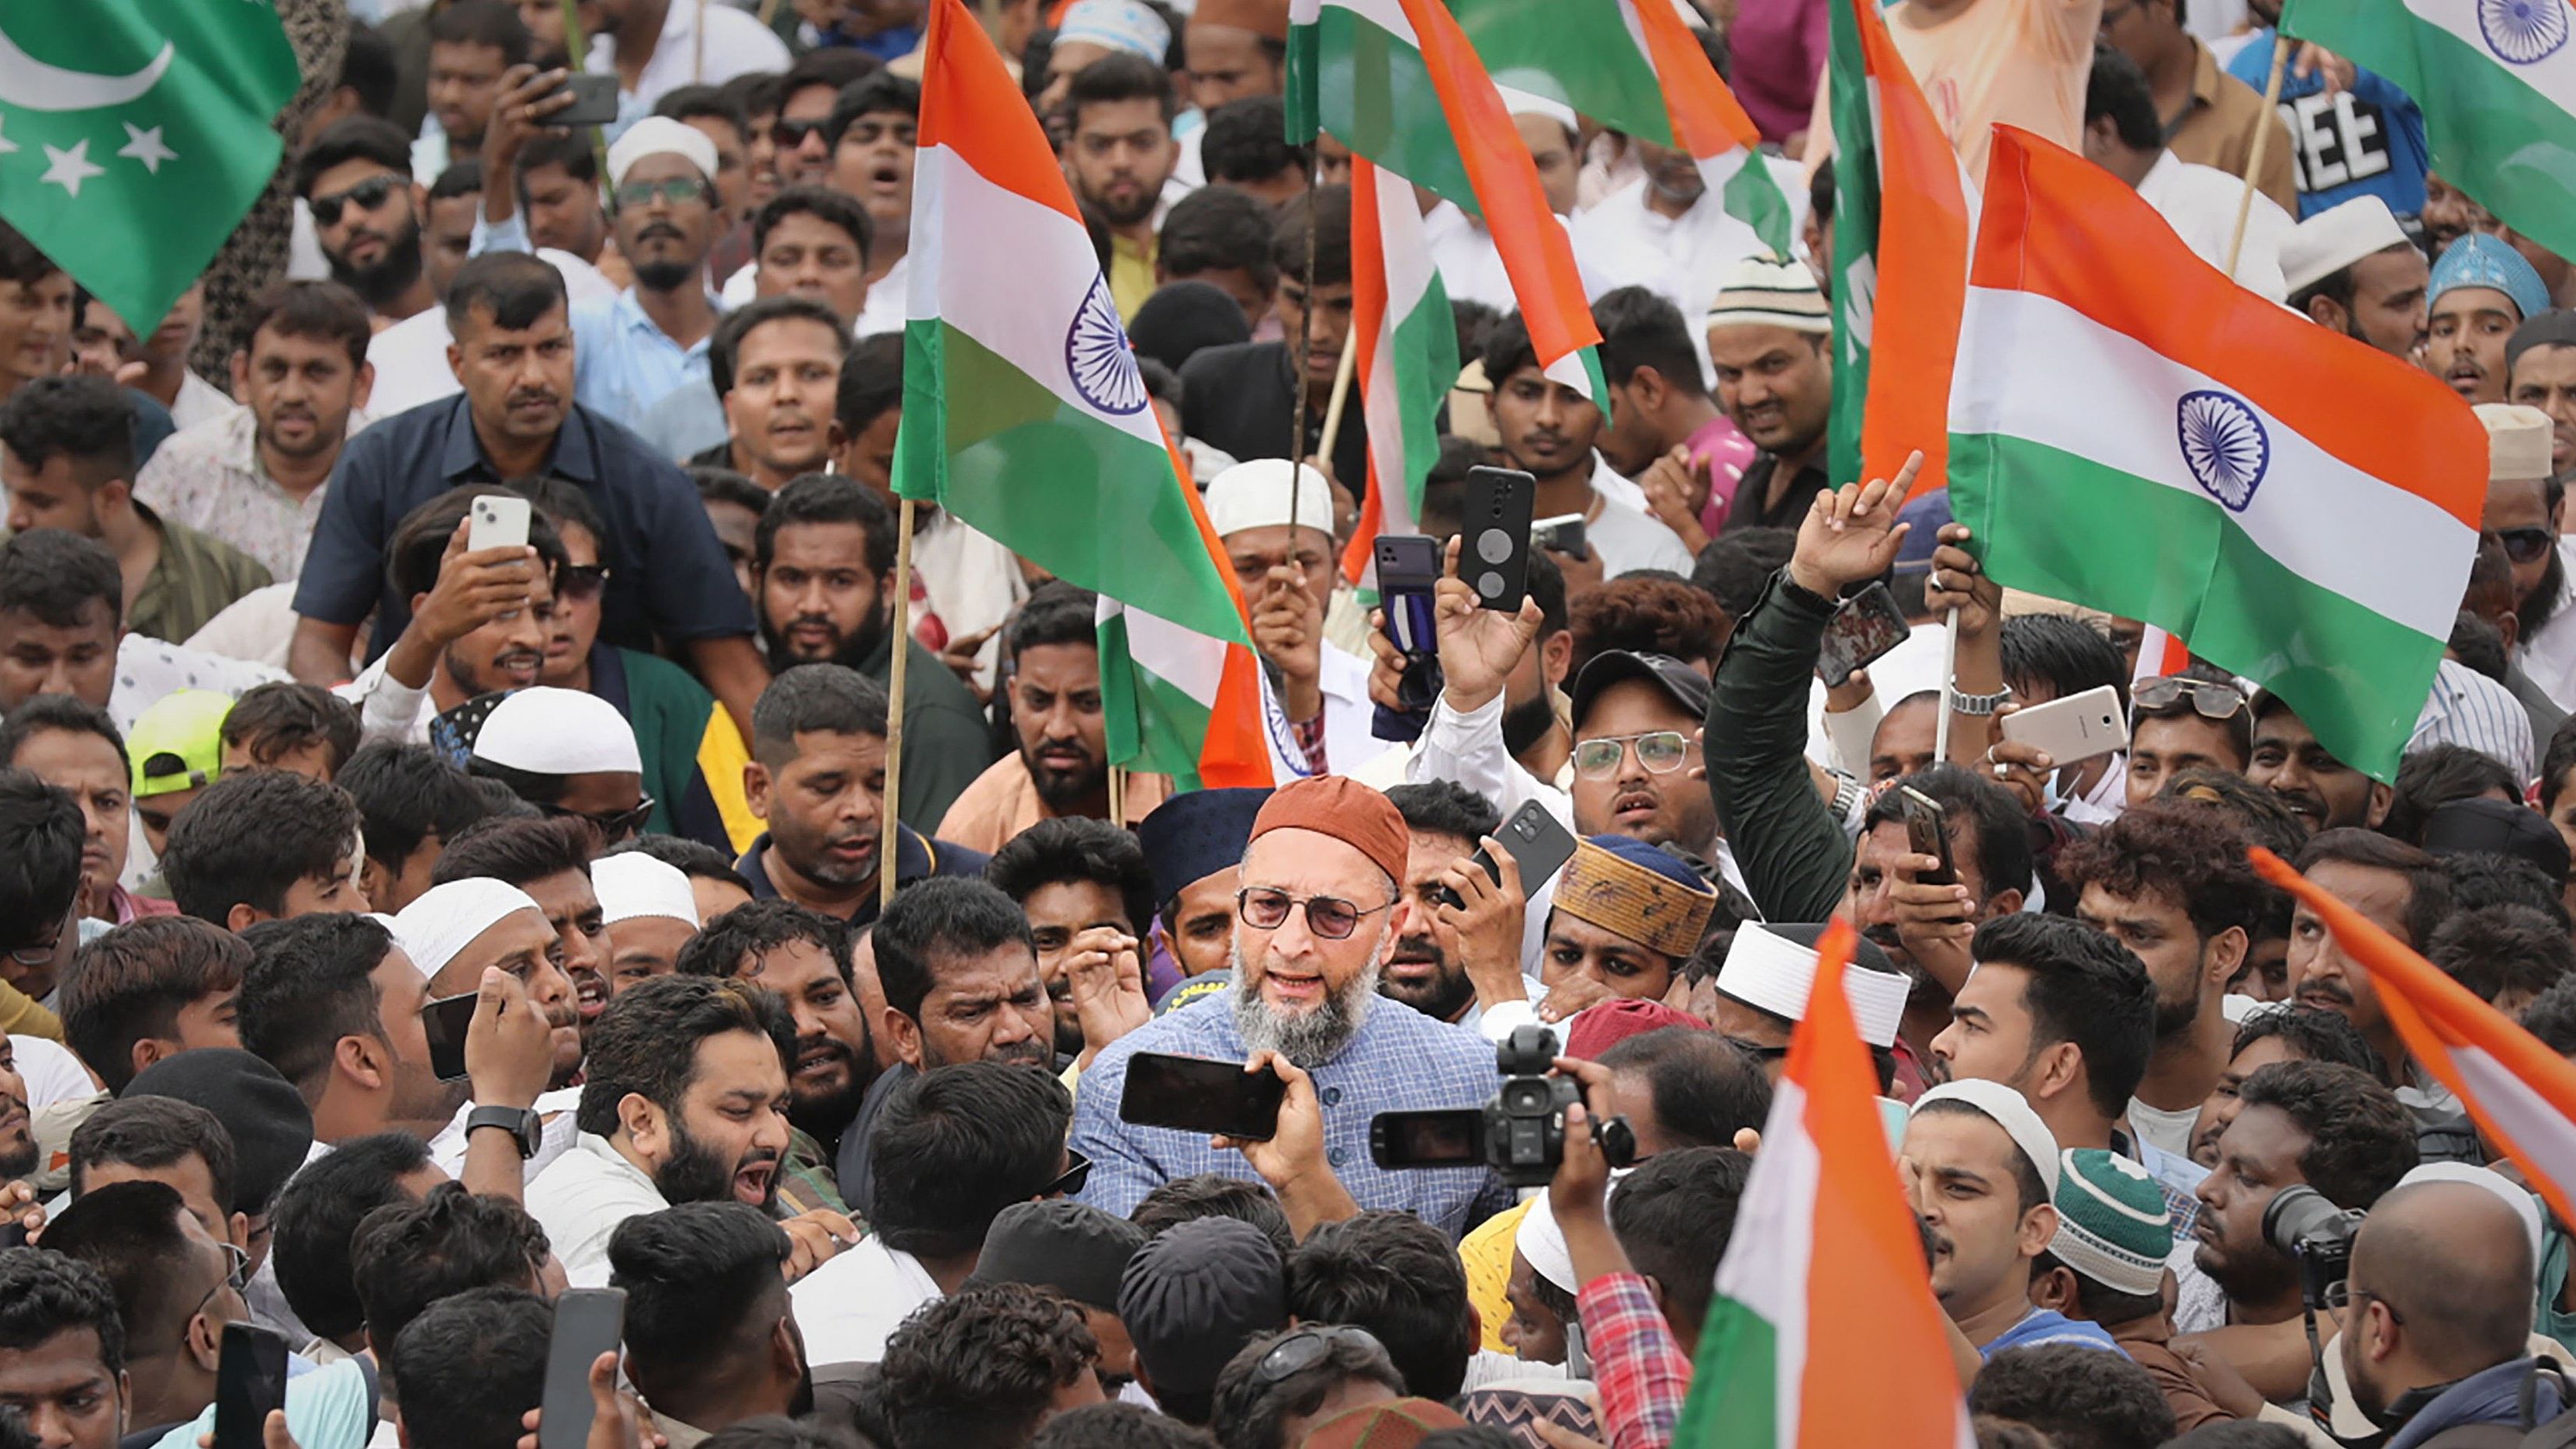
[[[1494,232],[1502,271],[1512,276],[1520,320],[1530,327],[1530,351],[1540,366],[1551,366],[1566,353],[1597,345],[1602,333],[1592,325],[1574,242],[1548,209],[1538,162],[1530,160],[1530,147],[1520,144],[1512,111],[1476,59],[1476,46],[1440,0],[1401,3],[1422,49],[1422,70],[1432,77],[1440,113],[1476,188],[1476,209]],[[1543,307],[1535,304],[1540,299]]]

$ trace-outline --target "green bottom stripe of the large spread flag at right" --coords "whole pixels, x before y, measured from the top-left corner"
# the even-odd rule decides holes
[[[2321,588],[2205,498],[2004,433],[1950,433],[1950,511],[1996,580],[2146,619],[2262,681],[2354,768],[2388,779],[2442,639]],[[2151,547],[2141,547],[2151,539]]]

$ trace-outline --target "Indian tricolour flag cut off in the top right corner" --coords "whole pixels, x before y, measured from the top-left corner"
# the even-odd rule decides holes
[[[2568,0],[2295,0],[2282,28],[2414,95],[2442,180],[2576,255]]]

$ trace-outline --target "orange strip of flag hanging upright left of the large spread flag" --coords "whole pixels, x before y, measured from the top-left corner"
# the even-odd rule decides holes
[[[1896,54],[1875,0],[1850,5],[1878,80],[1878,299],[1860,464],[1862,477],[1896,477],[1906,454],[1922,449],[1924,467],[1909,492],[1919,498],[1950,487],[1950,374],[1968,304],[1968,193],[1958,152]]]

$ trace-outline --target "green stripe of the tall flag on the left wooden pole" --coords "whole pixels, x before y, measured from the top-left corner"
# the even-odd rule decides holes
[[[1046,557],[1059,578],[1213,639],[1242,639],[1188,500],[1175,487],[1136,487],[1167,472],[1170,454],[1066,405],[943,320],[904,327],[894,454],[896,477],[935,477],[935,500],[1005,549]],[[1108,500],[1144,511],[1103,529]]]

